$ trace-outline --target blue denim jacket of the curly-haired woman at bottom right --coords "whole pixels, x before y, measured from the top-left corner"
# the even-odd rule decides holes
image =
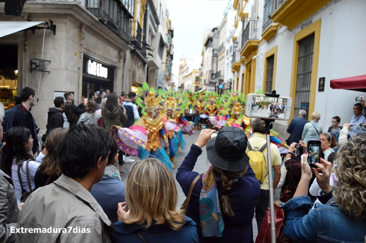
[[[331,198],[329,204],[316,203],[314,209],[308,196],[298,196],[283,204],[287,213],[284,234],[294,242],[364,243],[366,220],[353,219],[341,210],[332,191],[318,199],[323,203],[327,197]]]

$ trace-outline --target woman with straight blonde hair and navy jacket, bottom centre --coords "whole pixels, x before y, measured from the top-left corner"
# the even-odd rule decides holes
[[[127,178],[126,201],[118,203],[112,242],[198,242],[196,223],[176,208],[173,175],[155,158],[135,162]]]

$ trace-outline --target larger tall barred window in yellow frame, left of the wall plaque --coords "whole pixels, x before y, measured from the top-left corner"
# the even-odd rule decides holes
[[[314,36],[311,35],[299,42],[294,114],[299,114],[300,110],[309,112]]]

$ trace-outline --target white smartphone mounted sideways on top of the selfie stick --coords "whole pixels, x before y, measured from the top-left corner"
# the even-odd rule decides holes
[[[250,117],[285,119],[286,108],[287,99],[253,95]]]

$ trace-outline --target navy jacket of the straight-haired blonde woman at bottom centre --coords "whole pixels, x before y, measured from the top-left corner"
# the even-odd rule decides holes
[[[133,223],[126,224],[121,221],[114,224],[116,231],[111,235],[112,243],[139,243],[142,240],[137,236],[136,231],[142,230],[142,234],[150,242],[164,243],[193,243],[198,242],[196,223],[186,216],[186,224],[179,230],[171,229],[167,224],[152,224],[147,229],[144,225]]]

